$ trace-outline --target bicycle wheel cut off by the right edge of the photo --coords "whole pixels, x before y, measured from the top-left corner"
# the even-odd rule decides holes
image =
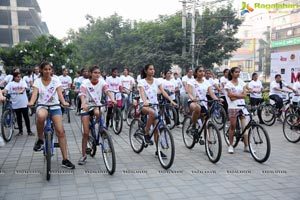
[[[286,116],[283,122],[283,135],[292,143],[300,141],[300,119],[296,114]]]

